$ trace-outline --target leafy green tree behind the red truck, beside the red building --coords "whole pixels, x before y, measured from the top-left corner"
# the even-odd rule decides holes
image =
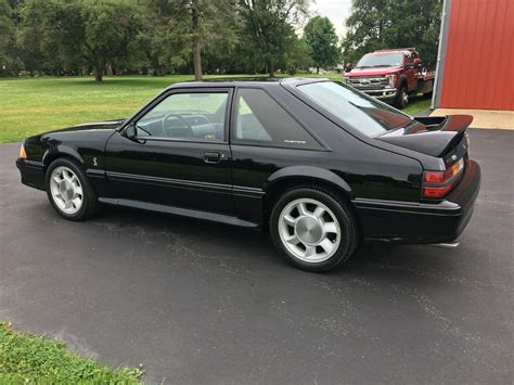
[[[441,0],[352,0],[343,43],[345,59],[384,48],[415,47],[435,63]]]

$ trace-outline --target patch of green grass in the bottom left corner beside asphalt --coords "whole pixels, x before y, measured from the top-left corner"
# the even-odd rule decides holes
[[[139,369],[113,370],[70,352],[61,342],[0,323],[0,384],[138,384],[141,375]]]

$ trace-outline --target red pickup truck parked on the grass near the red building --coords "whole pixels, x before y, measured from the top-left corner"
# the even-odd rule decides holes
[[[399,48],[367,53],[345,73],[343,81],[359,91],[403,108],[409,95],[432,95],[434,73],[423,67],[414,48]]]

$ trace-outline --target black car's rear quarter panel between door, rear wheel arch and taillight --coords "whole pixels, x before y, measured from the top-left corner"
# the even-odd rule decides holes
[[[245,219],[269,190],[280,170],[298,165],[324,169],[343,179],[351,198],[419,202],[422,165],[417,159],[365,143],[338,127],[284,89],[273,89],[279,100],[324,147],[320,151],[232,144],[232,176],[237,213]],[[301,177],[301,176],[299,176]],[[317,180],[317,174],[304,175]],[[249,192],[237,188],[249,189]],[[237,194],[241,193],[241,196]],[[259,207],[259,211],[262,208]]]

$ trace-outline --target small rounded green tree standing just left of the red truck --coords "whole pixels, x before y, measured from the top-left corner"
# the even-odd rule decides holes
[[[312,51],[312,61],[318,74],[320,67],[326,68],[337,64],[339,59],[338,38],[329,17],[312,17],[305,26],[304,36]]]

